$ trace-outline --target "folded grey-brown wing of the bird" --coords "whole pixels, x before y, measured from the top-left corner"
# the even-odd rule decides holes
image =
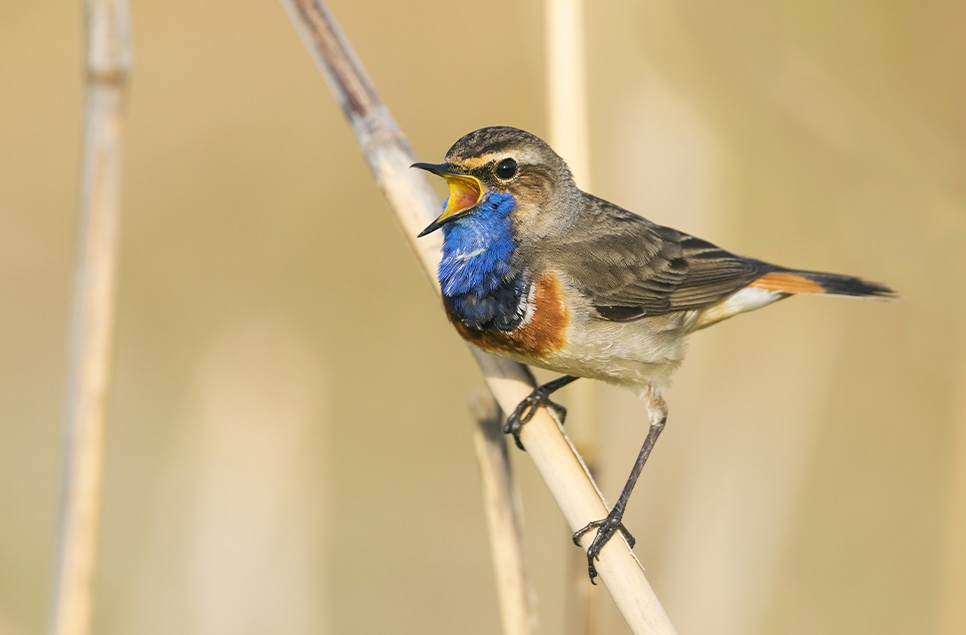
[[[592,198],[564,269],[607,320],[630,321],[716,302],[774,269]]]

